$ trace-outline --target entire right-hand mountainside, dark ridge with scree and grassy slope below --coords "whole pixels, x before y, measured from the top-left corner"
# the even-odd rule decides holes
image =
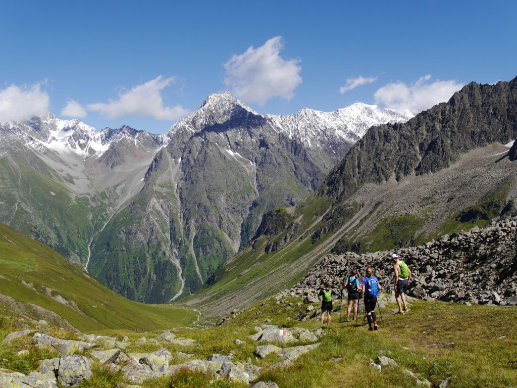
[[[221,299],[280,291],[286,272],[300,279],[330,251],[423,245],[517,216],[516,85],[471,83],[407,123],[370,128],[306,201],[266,214],[263,233],[188,303],[216,315],[230,309]]]

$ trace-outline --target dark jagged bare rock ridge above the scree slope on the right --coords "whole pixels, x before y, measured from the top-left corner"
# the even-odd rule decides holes
[[[371,128],[318,194],[343,200],[361,185],[437,172],[469,150],[515,138],[517,78],[495,85],[472,82],[407,123]]]

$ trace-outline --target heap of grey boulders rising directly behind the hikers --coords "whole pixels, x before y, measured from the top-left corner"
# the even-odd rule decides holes
[[[391,254],[408,264],[412,278],[408,294],[427,300],[517,305],[517,218],[490,226],[440,236],[424,245],[358,255],[327,255],[291,290],[292,295],[317,301],[317,290],[330,281],[340,290],[352,270],[364,276],[372,266],[385,290],[393,288]]]

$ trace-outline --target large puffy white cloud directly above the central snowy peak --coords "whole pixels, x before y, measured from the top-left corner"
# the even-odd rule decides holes
[[[244,54],[233,55],[224,64],[224,83],[232,93],[246,102],[260,105],[272,98],[290,100],[301,83],[299,61],[280,56],[282,37],[269,39],[264,46],[251,46]]]

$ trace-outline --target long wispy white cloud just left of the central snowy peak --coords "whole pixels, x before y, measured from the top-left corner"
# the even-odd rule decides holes
[[[88,105],[88,110],[99,112],[104,118],[122,116],[154,117],[157,120],[177,120],[189,113],[180,105],[164,107],[161,91],[173,84],[176,77],[162,79],[162,76],[137,85],[118,95],[118,100],[108,103],[97,102]]]

